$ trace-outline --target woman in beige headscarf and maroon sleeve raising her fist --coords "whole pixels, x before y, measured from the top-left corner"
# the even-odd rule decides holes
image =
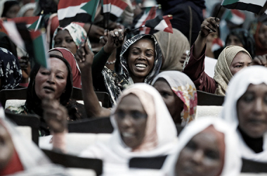
[[[218,23],[219,20],[216,21],[213,17],[204,20],[200,34],[183,65],[183,73],[193,80],[197,89],[224,96],[230,79],[239,70],[250,65],[252,57],[240,46],[227,46],[221,52],[215,65],[214,78],[209,77],[204,72],[206,41],[207,36],[216,31]]]

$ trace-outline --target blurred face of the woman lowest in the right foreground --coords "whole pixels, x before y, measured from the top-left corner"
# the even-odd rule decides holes
[[[223,168],[215,134],[200,132],[181,150],[176,163],[176,176],[216,176]]]

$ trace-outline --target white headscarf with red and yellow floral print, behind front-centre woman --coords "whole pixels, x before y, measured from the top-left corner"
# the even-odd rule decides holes
[[[152,82],[152,85],[162,77],[166,80],[174,93],[183,101],[183,111],[181,113],[181,125],[187,125],[188,122],[195,119],[197,111],[197,89],[195,84],[184,73],[178,71],[165,71],[159,73]]]

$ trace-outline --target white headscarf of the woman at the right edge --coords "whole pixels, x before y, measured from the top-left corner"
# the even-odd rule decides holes
[[[237,130],[239,124],[237,117],[237,101],[245,94],[249,84],[267,84],[267,68],[259,65],[249,66],[240,70],[228,84],[228,90],[223,103],[222,118],[234,125]],[[238,133],[239,134],[239,133]],[[267,161],[267,132],[263,135],[263,151],[255,153],[245,144],[242,136],[240,137],[240,149],[242,157],[254,161]]]

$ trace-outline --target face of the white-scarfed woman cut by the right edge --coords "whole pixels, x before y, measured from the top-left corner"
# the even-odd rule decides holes
[[[250,84],[237,101],[239,126],[249,137],[262,137],[267,132],[267,85]]]

